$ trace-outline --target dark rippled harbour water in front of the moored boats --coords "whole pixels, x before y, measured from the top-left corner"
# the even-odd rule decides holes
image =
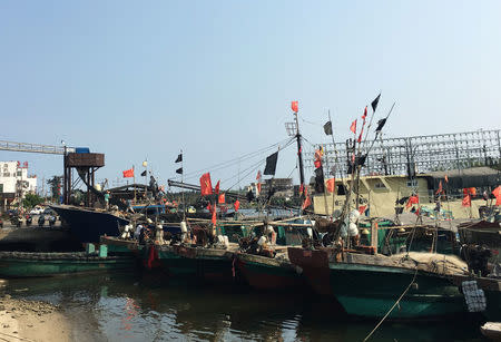
[[[58,304],[73,341],[363,341],[377,322],[308,293],[262,293],[138,274],[11,280],[12,297]],[[472,317],[384,322],[370,341],[483,341]]]

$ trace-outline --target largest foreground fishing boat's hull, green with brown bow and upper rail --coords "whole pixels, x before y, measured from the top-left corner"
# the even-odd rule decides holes
[[[443,255],[436,255],[431,268],[412,257],[335,253],[332,248],[288,248],[288,256],[317,293],[334,296],[350,315],[382,317],[400,295],[390,319],[428,320],[466,312],[464,295],[451,281],[461,270],[440,265]]]

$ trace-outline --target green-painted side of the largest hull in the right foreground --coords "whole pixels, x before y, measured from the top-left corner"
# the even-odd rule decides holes
[[[331,263],[332,292],[346,313],[383,317],[407,289],[414,270]],[[464,296],[446,277],[418,272],[390,319],[431,319],[466,311]]]

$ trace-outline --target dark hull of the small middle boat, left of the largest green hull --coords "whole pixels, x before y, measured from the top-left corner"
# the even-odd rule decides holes
[[[295,290],[306,285],[301,267],[288,261],[238,253],[237,266],[246,282],[258,290]]]

